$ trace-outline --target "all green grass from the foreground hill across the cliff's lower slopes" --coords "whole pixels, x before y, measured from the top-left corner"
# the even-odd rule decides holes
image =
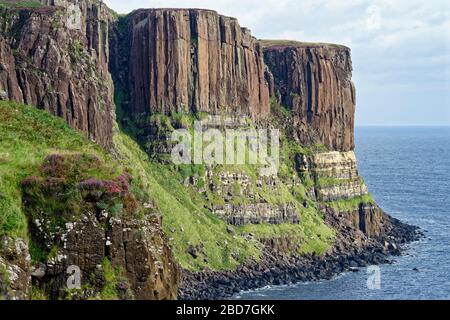
[[[227,233],[226,223],[204,209],[209,204],[205,198],[193,186],[181,183],[183,176],[177,168],[151,162],[118,129],[114,142],[116,150],[111,155],[59,118],[15,102],[0,102],[0,235],[28,238],[19,187],[25,177],[36,172],[44,157],[83,152],[103,159],[111,167],[131,170],[135,177],[132,191],[141,201],[150,199],[161,212],[163,229],[184,268],[233,269],[246,259],[258,259],[262,252],[260,243],[245,239],[241,233],[254,233],[255,238],[289,234],[298,239],[299,252],[321,253],[333,240],[333,231],[324,225],[314,206],[301,206],[304,188],[291,190],[287,186],[282,186],[276,197],[264,190],[263,196],[269,203],[294,203],[301,217],[299,225],[249,225],[237,228],[237,235],[232,236]],[[252,171],[248,167],[241,170]],[[197,259],[187,253],[190,245],[198,248]]]

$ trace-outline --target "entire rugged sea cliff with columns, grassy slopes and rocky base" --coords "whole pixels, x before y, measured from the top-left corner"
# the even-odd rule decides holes
[[[224,298],[419,237],[358,173],[349,48],[96,0],[0,1],[0,28],[2,298]],[[278,170],[172,163],[195,122],[278,129]]]

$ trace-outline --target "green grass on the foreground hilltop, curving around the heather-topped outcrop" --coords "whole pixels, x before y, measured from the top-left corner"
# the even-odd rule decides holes
[[[112,157],[59,118],[34,107],[0,101],[0,236],[28,238],[20,183],[35,174],[49,154],[82,152]]]

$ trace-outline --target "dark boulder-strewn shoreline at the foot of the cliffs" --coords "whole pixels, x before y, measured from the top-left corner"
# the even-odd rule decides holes
[[[269,285],[329,280],[359,267],[392,263],[391,257],[400,256],[406,244],[420,240],[424,234],[416,226],[387,215],[385,219],[388,226],[383,235],[365,239],[365,245],[359,248],[348,246],[350,237],[343,236],[337,239],[339,245],[324,256],[289,256],[266,247],[261,261],[248,262],[236,271],[183,270],[178,299],[227,299]]]

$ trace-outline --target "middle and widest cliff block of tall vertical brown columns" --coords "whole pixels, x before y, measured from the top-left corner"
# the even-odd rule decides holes
[[[129,112],[268,114],[262,49],[236,19],[210,10],[139,10],[120,35],[112,39],[111,69],[122,72]]]

